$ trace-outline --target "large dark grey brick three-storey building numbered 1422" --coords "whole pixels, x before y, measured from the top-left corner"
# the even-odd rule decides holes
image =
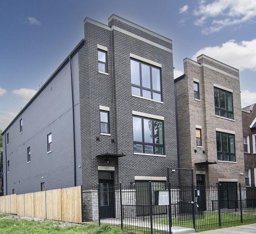
[[[116,15],[84,32],[2,133],[5,194],[161,186],[178,167],[172,40]]]

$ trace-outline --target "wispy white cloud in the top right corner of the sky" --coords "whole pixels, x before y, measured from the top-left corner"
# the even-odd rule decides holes
[[[201,0],[194,15],[200,17],[194,24],[203,26],[209,18],[216,18],[206,26],[203,34],[210,34],[220,31],[222,28],[232,25],[250,22],[256,17],[255,0],[214,0],[211,3]]]

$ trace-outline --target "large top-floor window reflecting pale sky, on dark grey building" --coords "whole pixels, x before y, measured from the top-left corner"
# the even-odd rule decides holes
[[[160,68],[131,59],[132,94],[161,101]]]

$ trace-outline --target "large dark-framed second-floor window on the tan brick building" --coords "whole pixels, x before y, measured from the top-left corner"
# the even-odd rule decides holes
[[[235,162],[235,136],[228,133],[216,133],[218,160]]]

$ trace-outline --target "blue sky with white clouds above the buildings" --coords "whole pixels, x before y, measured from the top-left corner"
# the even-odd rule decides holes
[[[84,37],[84,18],[116,14],[173,41],[174,76],[205,54],[240,70],[242,107],[256,103],[255,0],[0,2],[0,130]]]

